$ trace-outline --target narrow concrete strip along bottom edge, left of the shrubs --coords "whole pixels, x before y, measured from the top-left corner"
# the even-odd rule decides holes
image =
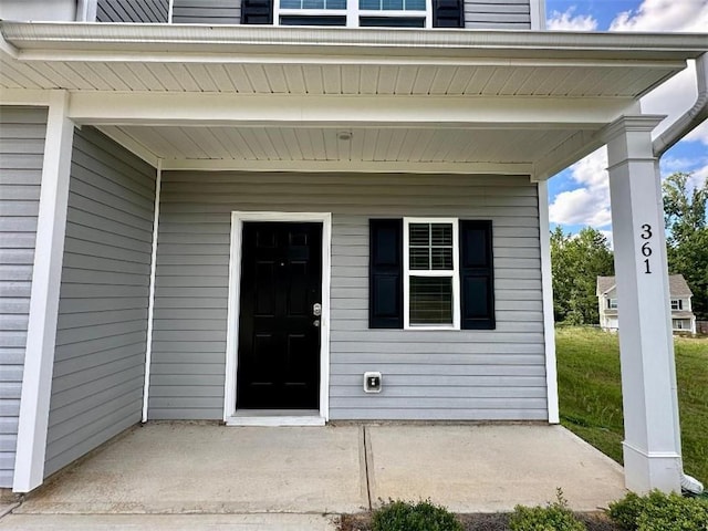
[[[334,531],[320,514],[11,514],[4,531]]]

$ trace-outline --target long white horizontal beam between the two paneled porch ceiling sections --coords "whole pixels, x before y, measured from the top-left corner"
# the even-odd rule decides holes
[[[598,129],[626,98],[75,92],[69,116],[88,125]]]

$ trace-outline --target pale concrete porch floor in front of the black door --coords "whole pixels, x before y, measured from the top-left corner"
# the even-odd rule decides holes
[[[596,510],[624,494],[624,478],[560,426],[149,423],[28,496],[0,529],[326,530],[330,514],[388,498],[510,511],[556,487],[573,509]]]

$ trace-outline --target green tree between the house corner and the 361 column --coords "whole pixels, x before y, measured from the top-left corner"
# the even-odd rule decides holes
[[[585,227],[572,236],[556,227],[551,232],[551,271],[555,321],[598,323],[597,277],[614,274],[613,254],[602,232]]]

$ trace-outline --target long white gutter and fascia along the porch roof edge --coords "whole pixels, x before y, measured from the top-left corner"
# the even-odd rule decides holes
[[[201,24],[0,22],[23,53],[71,51],[216,51],[285,55],[487,56],[522,59],[687,60],[708,52],[705,33],[597,33]]]

